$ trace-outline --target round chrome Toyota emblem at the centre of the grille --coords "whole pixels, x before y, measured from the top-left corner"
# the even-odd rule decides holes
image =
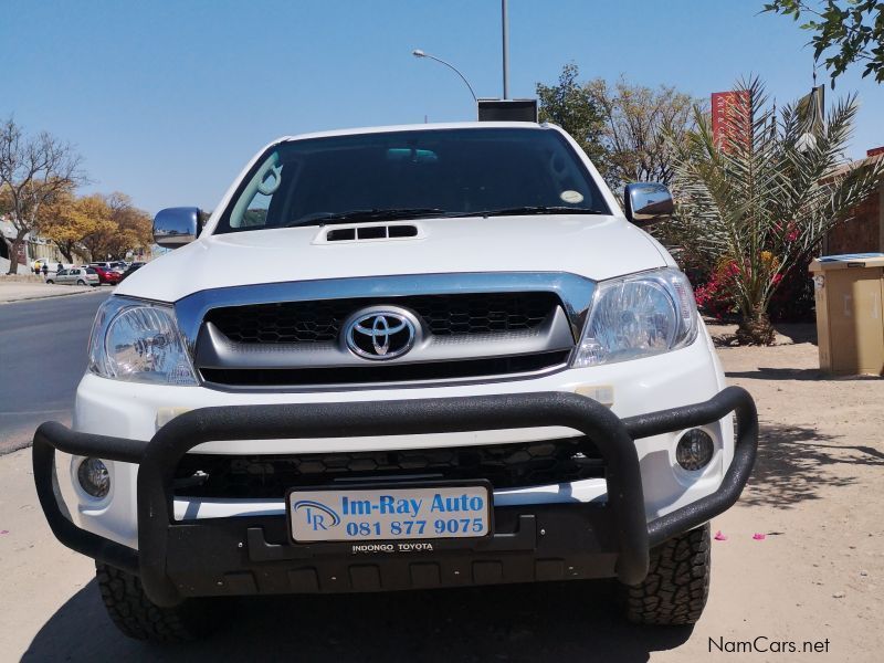
[[[365,359],[394,359],[414,345],[414,323],[403,309],[357,314],[346,328],[347,347]]]

